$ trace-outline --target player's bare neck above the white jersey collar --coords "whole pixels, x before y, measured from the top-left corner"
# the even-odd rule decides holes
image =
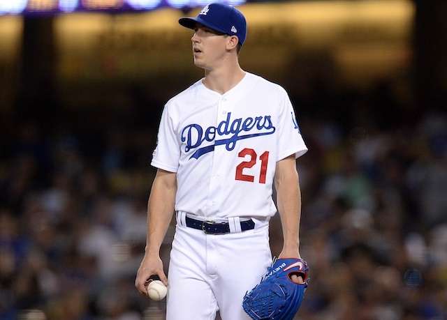
[[[203,84],[210,90],[223,94],[233,89],[245,76],[239,64],[224,70],[205,70]]]

